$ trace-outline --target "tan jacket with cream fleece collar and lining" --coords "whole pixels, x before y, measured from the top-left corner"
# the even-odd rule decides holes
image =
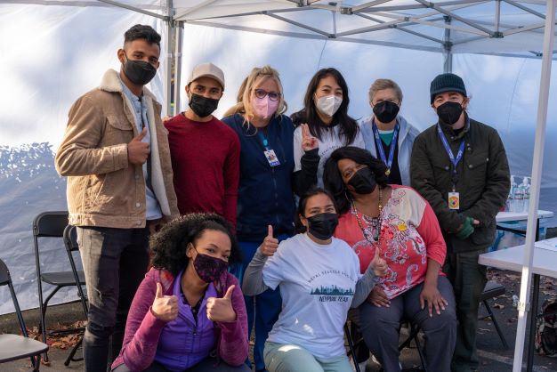
[[[151,184],[165,218],[178,215],[173,172],[161,106],[143,88],[150,125]],[[153,128],[155,130],[153,130]],[[132,102],[117,71],[109,69],[101,86],[81,96],[69,121],[56,170],[68,176],[69,223],[121,229],[145,227],[145,180],[141,166],[128,162],[127,143],[138,135]]]

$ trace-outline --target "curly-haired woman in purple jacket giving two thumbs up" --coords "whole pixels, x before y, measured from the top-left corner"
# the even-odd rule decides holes
[[[246,372],[247,320],[230,224],[186,214],[150,241],[153,268],[133,297],[114,372]]]

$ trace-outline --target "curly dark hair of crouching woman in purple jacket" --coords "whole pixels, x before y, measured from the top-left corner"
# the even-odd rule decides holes
[[[230,222],[219,214],[184,214],[166,223],[157,234],[151,236],[149,247],[153,255],[153,267],[177,275],[190,261],[186,256],[189,243],[195,242],[205,230],[222,231],[230,238],[229,263],[242,261],[238,240]]]

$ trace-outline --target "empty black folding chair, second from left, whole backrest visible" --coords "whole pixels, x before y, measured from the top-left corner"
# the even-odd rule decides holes
[[[46,338],[48,335],[54,334],[65,334],[65,333],[77,333],[84,331],[84,328],[69,328],[69,329],[56,329],[52,331],[46,330],[46,309],[48,307],[48,302],[63,287],[77,287],[77,293],[80,297],[80,301],[83,305],[85,318],[87,316],[87,305],[85,303],[85,295],[83,294],[82,285],[85,285],[85,274],[83,271],[76,271],[75,262],[71,252],[68,251],[68,247],[64,245],[67,249],[69,256],[69,263],[72,267],[72,271],[55,271],[55,272],[41,272],[41,262],[39,255],[39,239],[44,238],[58,238],[62,239],[64,236],[64,230],[68,226],[68,212],[44,212],[36,216],[33,221],[33,242],[35,245],[35,260],[36,260],[36,283],[38,287],[38,298],[39,298],[39,308],[40,308],[40,331],[43,335],[43,342],[46,343]],[[75,275],[77,274],[77,275]],[[52,292],[47,295],[46,299],[43,300],[43,282],[51,284],[54,286]],[[77,344],[78,346],[78,344]],[[66,360],[66,365],[69,364],[69,360],[73,360],[73,356],[77,350],[75,347],[71,352],[68,360]],[[44,354],[44,360],[48,361],[48,355]]]

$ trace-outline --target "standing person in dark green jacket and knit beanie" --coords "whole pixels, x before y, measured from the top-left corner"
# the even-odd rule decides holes
[[[487,280],[478,256],[495,239],[496,214],[510,188],[509,166],[496,130],[468,116],[461,77],[435,77],[430,94],[439,121],[416,137],[410,180],[435,211],[447,243],[443,271],[455,290],[458,319],[451,370],[477,370],[478,308]]]

